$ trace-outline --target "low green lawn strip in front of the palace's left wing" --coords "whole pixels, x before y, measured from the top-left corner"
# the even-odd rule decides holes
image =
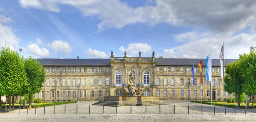
[[[48,103],[32,103],[32,108],[44,107],[44,106],[52,106],[52,105],[61,105],[68,103],[76,103],[76,101],[67,101],[67,102],[48,102]],[[29,104],[26,104],[29,105]],[[2,106],[9,106],[9,104],[2,104]],[[14,104],[15,108],[19,108],[20,104]],[[22,106],[22,105],[21,105]]]

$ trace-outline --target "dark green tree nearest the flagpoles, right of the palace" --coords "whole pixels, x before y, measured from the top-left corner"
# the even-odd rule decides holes
[[[244,92],[242,89],[244,79],[240,74],[241,68],[239,68],[239,64],[239,61],[227,64],[225,69],[227,75],[224,77],[224,90],[228,93],[235,92],[237,95],[238,108],[240,108],[240,94]]]

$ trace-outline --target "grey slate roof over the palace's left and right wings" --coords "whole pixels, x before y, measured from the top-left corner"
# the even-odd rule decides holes
[[[94,58],[94,59],[56,59],[56,58],[38,58],[41,65],[43,66],[111,66],[109,61],[110,58]],[[195,63],[195,66],[198,66],[198,63],[201,59],[192,59],[192,58],[156,58],[156,66],[192,66]],[[227,63],[236,61],[237,59],[225,59],[225,66]],[[205,66],[205,59],[202,59],[202,65]],[[213,67],[220,67],[219,59],[212,59]]]

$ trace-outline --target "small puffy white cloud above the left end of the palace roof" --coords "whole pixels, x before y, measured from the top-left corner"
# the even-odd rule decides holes
[[[64,55],[72,52],[72,48],[68,42],[63,42],[62,40],[55,40],[51,44],[47,44],[48,47],[51,47],[55,53],[58,51],[63,51]]]

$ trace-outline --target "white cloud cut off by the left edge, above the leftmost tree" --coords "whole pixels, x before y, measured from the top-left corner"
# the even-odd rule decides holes
[[[13,22],[11,18],[0,15],[0,47],[9,46],[11,49],[19,47],[20,38],[15,36],[11,27],[3,25],[3,23]]]

